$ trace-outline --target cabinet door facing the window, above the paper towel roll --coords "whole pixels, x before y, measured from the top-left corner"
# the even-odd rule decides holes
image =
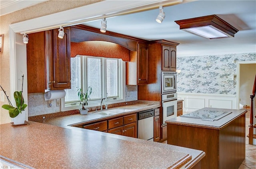
[[[63,39],[58,38],[59,31],[53,34],[53,89],[71,89],[70,72],[70,30],[64,28]]]

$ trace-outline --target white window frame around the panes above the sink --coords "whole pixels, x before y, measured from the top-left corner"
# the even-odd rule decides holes
[[[120,103],[125,101],[125,84],[126,84],[126,64],[123,62],[121,59],[116,59],[116,58],[104,58],[104,57],[96,57],[96,56],[82,56],[79,55],[80,60],[81,60],[81,74],[80,78],[85,77],[86,80],[81,80],[80,86],[83,87],[84,89],[87,89],[87,58],[92,57],[92,58],[100,58],[101,59],[101,80],[102,84],[106,83],[106,60],[107,59],[114,59],[118,61],[118,85],[119,87],[119,97],[107,97],[106,95],[106,85],[102,85],[101,87],[101,98],[106,97],[106,99],[103,101],[103,105],[105,104],[113,104],[113,103]],[[88,107],[96,107],[100,106],[101,99],[90,99],[88,101]],[[65,103],[65,97],[61,99],[61,107],[60,111],[69,111],[69,110],[74,110],[74,109],[81,109],[82,105],[80,105],[79,101],[70,101],[68,103]]]

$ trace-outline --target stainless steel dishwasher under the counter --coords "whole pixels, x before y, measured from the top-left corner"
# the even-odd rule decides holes
[[[153,141],[154,137],[154,110],[138,112],[138,138]]]

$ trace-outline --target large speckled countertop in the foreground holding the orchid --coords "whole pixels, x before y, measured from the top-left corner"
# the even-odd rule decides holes
[[[22,168],[191,168],[205,155],[174,145],[32,121],[22,126],[2,124],[0,130],[1,160]]]

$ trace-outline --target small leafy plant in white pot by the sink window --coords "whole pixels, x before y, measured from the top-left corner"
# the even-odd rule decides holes
[[[82,91],[81,88],[78,90],[78,97],[80,99],[80,105],[82,105],[82,109],[79,109],[80,114],[87,114],[89,109],[86,109],[84,106],[88,105],[88,99],[90,99],[90,95],[92,94],[92,87],[89,86],[88,89],[86,90],[86,93]]]

